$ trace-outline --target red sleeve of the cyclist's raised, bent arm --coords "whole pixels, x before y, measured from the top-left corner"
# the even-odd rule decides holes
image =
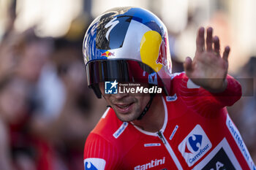
[[[206,117],[211,117],[219,109],[231,106],[241,98],[241,85],[230,75],[227,75],[227,88],[222,93],[211,93],[193,84],[185,73],[176,77],[174,88],[187,107]]]

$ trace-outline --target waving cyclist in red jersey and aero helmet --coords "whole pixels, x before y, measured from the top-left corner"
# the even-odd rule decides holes
[[[255,169],[226,106],[241,98],[213,28],[172,74],[167,29],[146,9],[117,7],[83,42],[89,87],[110,107],[86,140],[85,169]],[[145,90],[146,89],[146,90]]]

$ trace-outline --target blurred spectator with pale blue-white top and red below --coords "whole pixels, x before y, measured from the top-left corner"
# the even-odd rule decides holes
[[[29,134],[37,150],[37,169],[64,169],[53,147],[54,124],[64,104],[65,91],[51,62],[53,39],[40,38],[31,28],[23,33],[24,47],[17,74],[29,86]]]

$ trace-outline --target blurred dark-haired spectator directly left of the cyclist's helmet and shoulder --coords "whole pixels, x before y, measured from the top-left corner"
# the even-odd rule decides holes
[[[53,61],[66,91],[64,107],[56,127],[61,142],[58,149],[69,169],[74,170],[83,169],[83,144],[105,110],[105,101],[102,100],[104,104],[96,102],[97,98],[87,88],[81,55],[76,43],[67,39],[56,41]]]

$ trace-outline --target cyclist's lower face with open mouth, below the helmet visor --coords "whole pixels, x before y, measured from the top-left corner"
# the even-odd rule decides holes
[[[105,94],[104,83],[99,83],[99,89],[102,96],[116,112],[118,119],[124,122],[136,120],[150,99],[149,94]]]

